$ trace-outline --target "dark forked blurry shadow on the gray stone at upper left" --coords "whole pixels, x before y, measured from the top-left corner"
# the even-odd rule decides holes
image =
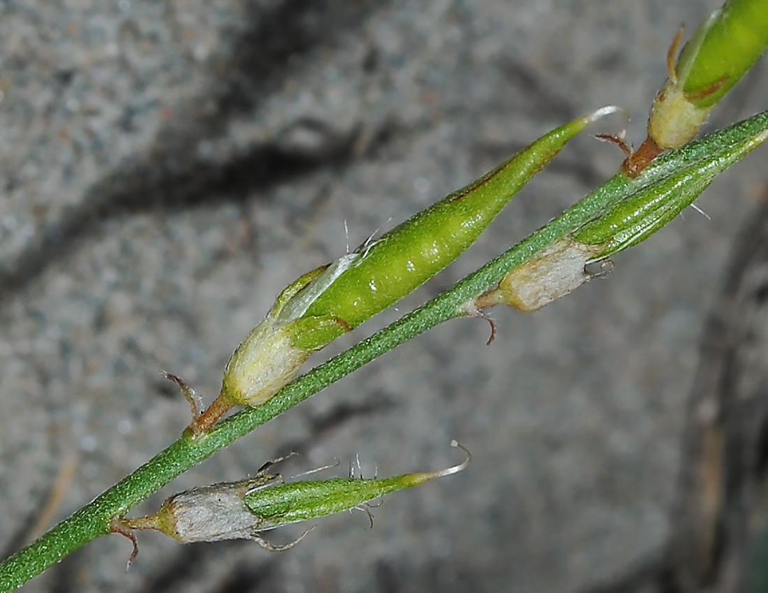
[[[33,247],[0,270],[0,304],[68,257],[85,237],[98,234],[106,220],[242,202],[254,192],[349,163],[356,134],[336,137],[311,121],[303,124],[323,138],[314,151],[297,151],[275,138],[227,162],[210,163],[201,161],[197,146],[223,137],[233,118],[257,112],[282,87],[297,60],[332,47],[387,4],[284,0],[268,10],[252,5],[228,61],[210,65],[211,94],[174,108],[174,120],[157,134],[153,147],[98,181],[81,206],[43,229]]]

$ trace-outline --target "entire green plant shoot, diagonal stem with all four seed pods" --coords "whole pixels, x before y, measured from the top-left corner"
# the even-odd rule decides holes
[[[227,364],[220,396],[203,416],[195,409],[190,430],[0,563],[0,591],[18,588],[100,535],[121,532],[135,542],[133,529],[158,529],[180,541],[245,537],[270,549],[285,548],[263,542],[260,533],[353,509],[386,492],[464,469],[469,459],[441,472],[389,479],[281,484],[279,476],[266,473],[266,464],[253,479],[181,492],[155,515],[124,518],[177,475],[400,343],[495,303],[538,308],[588,280],[586,263],[631,247],[664,226],[714,175],[768,139],[766,111],[700,141],[686,140],[763,52],[766,29],[768,0],[729,0],[701,25],[677,62],[677,41],[673,43],[667,55],[670,81],[654,104],[649,137],[625,161],[624,173],[417,310],[291,380],[313,350],[394,303],[457,257],[574,134],[616,108],[603,108],[546,134],[381,239],[300,277],[240,344]],[[657,157],[663,148],[675,146]],[[637,154],[641,157],[636,159]],[[177,383],[192,400],[190,389]],[[216,423],[236,404],[249,407]]]

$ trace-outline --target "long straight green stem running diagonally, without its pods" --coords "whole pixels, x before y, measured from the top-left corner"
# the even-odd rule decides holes
[[[525,263],[554,240],[577,230],[608,207],[656,183],[680,167],[697,161],[724,158],[737,144],[768,128],[768,111],[734,124],[700,141],[663,154],[635,179],[619,173],[578,204],[565,210],[515,247],[460,280],[419,309],[402,316],[356,346],[294,379],[261,406],[243,411],[214,425],[209,432],[192,437],[185,432],[150,461],[99,495],[92,502],[41,535],[0,564],[0,591],[12,591],[77,548],[111,532],[112,519],[157,492],[177,475],[279,416],[304,399],[369,363],[377,356],[446,320],[464,315],[465,303],[495,287],[511,268]]]

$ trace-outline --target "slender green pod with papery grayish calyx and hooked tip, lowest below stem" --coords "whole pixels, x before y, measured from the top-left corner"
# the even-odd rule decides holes
[[[134,530],[153,529],[178,542],[218,542],[225,539],[252,539],[264,548],[283,551],[294,542],[275,546],[266,542],[264,531],[280,525],[324,517],[333,513],[361,508],[366,502],[397,490],[452,475],[466,469],[472,460],[469,450],[456,442],[465,453],[458,465],[434,472],[394,475],[389,478],[332,478],[283,483],[279,474],[267,471],[285,457],[266,462],[253,478],[239,482],[223,482],[179,492],[170,496],[154,515],[137,518],[116,518],[114,532],[131,538],[137,555]]]

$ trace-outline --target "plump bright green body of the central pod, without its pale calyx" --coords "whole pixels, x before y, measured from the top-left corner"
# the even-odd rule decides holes
[[[306,316],[333,317],[353,328],[415,290],[474,243],[511,197],[571,137],[616,111],[602,108],[545,134],[477,181],[362,247],[362,257],[314,300]],[[337,333],[343,330],[339,327]],[[296,340],[310,349],[324,346],[301,336]]]

